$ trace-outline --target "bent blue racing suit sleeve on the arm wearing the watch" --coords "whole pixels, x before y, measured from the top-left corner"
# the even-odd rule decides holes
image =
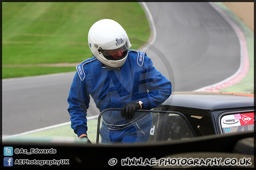
[[[162,104],[172,93],[171,82],[164,77],[153,66],[153,62],[145,55],[144,70],[144,86],[148,92],[143,94],[141,101],[143,102],[144,109],[152,109]]]

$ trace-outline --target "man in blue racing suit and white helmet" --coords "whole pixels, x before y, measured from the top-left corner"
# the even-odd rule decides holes
[[[153,67],[145,52],[129,50],[126,31],[111,19],[97,21],[89,30],[88,43],[94,57],[76,66],[68,103],[71,128],[87,138],[90,96],[97,108],[122,108],[106,112],[100,135],[103,143],[147,141],[152,117],[134,114],[138,109],[159,106],[171,95],[171,82]]]

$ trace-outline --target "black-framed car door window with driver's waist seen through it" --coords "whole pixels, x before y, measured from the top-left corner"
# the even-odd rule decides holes
[[[178,112],[139,110],[125,120],[121,109],[105,109],[98,118],[96,143],[154,143],[196,136],[186,117]]]

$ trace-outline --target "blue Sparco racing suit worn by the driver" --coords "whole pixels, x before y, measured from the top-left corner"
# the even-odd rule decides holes
[[[86,112],[89,108],[89,95],[100,112],[106,108],[122,108],[124,104],[139,100],[144,104],[143,109],[151,109],[159,106],[171,95],[171,82],[153,67],[145,52],[129,50],[127,60],[120,68],[102,66],[101,62],[92,57],[76,66],[76,69],[68,96],[68,112],[71,128],[78,136],[87,134]],[[108,112],[102,117],[102,142],[148,140],[152,122],[150,113],[135,113],[130,121],[126,121],[116,112]],[[122,130],[115,131],[117,128]],[[125,135],[128,137],[124,137]]]

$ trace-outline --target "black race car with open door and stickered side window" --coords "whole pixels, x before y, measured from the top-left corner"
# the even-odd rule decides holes
[[[104,114],[120,111],[121,109],[105,109],[101,112],[98,119],[97,143],[101,142],[101,126],[106,122],[111,122],[111,120],[103,119]],[[139,110],[135,114],[145,113],[152,115],[147,142],[253,131],[254,94],[173,92],[160,106],[151,110]],[[130,123],[136,126],[137,120],[132,119]],[[117,128],[119,126],[115,123],[112,125]],[[138,125],[138,131],[145,130],[139,127]]]

